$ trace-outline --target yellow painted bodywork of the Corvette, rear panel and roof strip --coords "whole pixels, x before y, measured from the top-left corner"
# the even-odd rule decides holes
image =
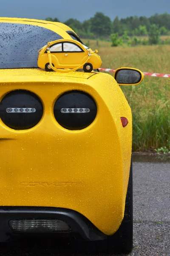
[[[57,26],[36,24],[69,39]],[[115,79],[95,72],[0,70],[0,101],[17,89],[37,94],[44,113],[34,128],[22,131],[0,120],[0,205],[73,209],[103,233],[115,233],[124,216],[132,145],[131,110]],[[69,90],[89,93],[97,105],[94,122],[79,131],[54,118],[57,98]],[[129,121],[125,128],[122,116]]]

